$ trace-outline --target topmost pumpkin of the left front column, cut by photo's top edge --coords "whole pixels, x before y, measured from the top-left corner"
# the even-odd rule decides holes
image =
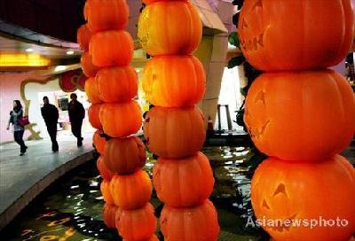
[[[123,29],[130,14],[126,0],[88,0],[85,11],[92,32]]]

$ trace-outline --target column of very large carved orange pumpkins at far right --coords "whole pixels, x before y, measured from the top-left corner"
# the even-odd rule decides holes
[[[241,50],[266,72],[248,91],[244,121],[271,156],[256,169],[251,198],[276,241],[347,241],[355,233],[355,170],[337,154],[354,136],[355,97],[327,69],[345,58],[353,27],[350,0],[242,7]]]

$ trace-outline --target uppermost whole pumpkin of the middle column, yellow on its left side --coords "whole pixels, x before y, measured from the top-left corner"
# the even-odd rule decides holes
[[[190,54],[200,44],[202,23],[193,4],[149,4],[138,19],[138,39],[150,55]]]

